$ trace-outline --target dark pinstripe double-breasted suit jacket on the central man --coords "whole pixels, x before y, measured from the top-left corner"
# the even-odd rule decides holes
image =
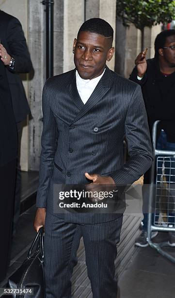
[[[152,147],[141,88],[106,67],[84,105],[76,70],[49,78],[43,90],[43,133],[37,207],[54,209],[54,185],[86,184],[84,173],[111,176],[116,185],[138,180],[150,168]],[[124,164],[123,140],[129,161]],[[67,222],[99,223],[118,215],[64,215]],[[63,216],[62,216],[63,218]]]

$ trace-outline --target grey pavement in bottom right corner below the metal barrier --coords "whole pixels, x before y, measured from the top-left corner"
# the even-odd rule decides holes
[[[159,232],[154,242],[164,242],[168,233]],[[164,250],[175,257],[175,247]],[[175,298],[175,263],[148,247],[139,248],[119,279],[117,298]]]

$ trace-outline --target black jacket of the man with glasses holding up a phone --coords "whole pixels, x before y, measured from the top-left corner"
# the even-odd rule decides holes
[[[150,133],[156,120],[167,134],[167,141],[175,143],[175,72],[167,77],[159,71],[157,59],[147,60],[147,71],[142,80],[137,79],[137,69],[133,69],[130,80],[142,87],[143,99],[148,116]]]

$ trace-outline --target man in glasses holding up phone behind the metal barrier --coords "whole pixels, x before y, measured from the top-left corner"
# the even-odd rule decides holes
[[[155,57],[146,60],[145,52],[142,52],[137,56],[135,64],[129,79],[142,86],[150,134],[154,122],[161,120],[157,148],[175,151],[175,30],[159,33],[155,39]],[[144,174],[145,185],[150,183],[150,174],[150,170]],[[175,174],[173,170],[171,174]],[[143,210],[147,201],[147,193],[143,190]],[[143,211],[143,215],[143,231],[135,242],[141,247],[148,245],[147,214]],[[175,226],[174,213],[172,221]],[[156,235],[153,233],[152,238]],[[175,246],[174,233],[170,234],[169,245]]]

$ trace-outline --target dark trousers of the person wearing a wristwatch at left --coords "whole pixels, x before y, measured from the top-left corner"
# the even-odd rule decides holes
[[[16,227],[20,215],[20,201],[21,201],[21,168],[20,168],[20,148],[22,137],[22,122],[16,123],[17,128],[17,162],[16,162],[16,182],[15,182],[15,206],[14,206],[14,219],[13,219],[13,233],[16,232]]]

